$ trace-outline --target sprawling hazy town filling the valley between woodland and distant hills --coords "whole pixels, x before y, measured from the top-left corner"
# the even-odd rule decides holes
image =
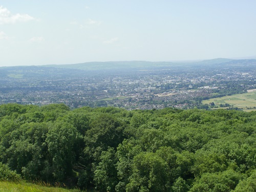
[[[132,62],[132,61],[131,61]],[[0,104],[114,106],[126,110],[208,109],[202,100],[256,89],[255,60],[85,71],[47,66],[0,68]]]

